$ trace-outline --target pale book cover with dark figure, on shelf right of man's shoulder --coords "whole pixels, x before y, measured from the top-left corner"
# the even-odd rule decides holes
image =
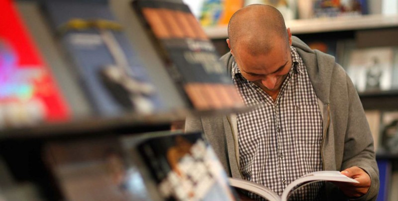
[[[358,92],[390,90],[393,79],[393,48],[354,49],[349,54],[346,68]]]

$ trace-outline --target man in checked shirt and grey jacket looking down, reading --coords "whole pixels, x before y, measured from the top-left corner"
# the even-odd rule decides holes
[[[238,10],[228,24],[230,53],[221,58],[253,111],[190,117],[232,177],[281,195],[298,177],[339,170],[359,184],[309,185],[305,200],[375,200],[379,189],[373,139],[362,104],[332,56],[311,50],[286,29],[272,6]],[[256,198],[251,195],[252,198]]]

